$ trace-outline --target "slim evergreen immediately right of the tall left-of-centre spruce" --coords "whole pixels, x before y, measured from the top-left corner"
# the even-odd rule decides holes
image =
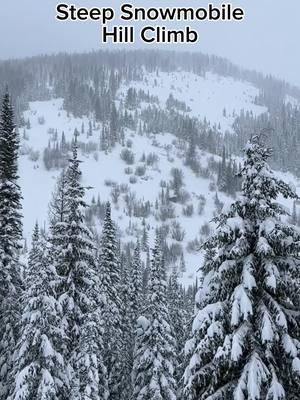
[[[118,259],[116,228],[111,219],[109,203],[106,205],[98,269],[101,293],[105,298],[104,360],[108,371],[109,399],[119,400],[123,393],[121,268]]]

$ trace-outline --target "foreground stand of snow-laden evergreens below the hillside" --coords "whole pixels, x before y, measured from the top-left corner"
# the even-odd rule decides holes
[[[278,195],[298,200],[253,136],[242,196],[204,243],[194,313],[161,236],[143,265],[121,250],[110,203],[101,242],[84,218],[76,137],[20,261],[19,139],[9,95],[0,121],[0,398],[296,400],[300,390],[300,232]],[[193,317],[193,323],[191,319]],[[186,341],[186,344],[184,345]]]

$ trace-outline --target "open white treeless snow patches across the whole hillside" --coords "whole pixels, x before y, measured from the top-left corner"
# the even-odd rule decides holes
[[[233,123],[233,113],[245,109],[259,114],[265,111],[263,107],[254,104],[257,89],[248,83],[234,81],[231,78],[218,77],[207,74],[206,78],[191,73],[163,73],[148,74],[142,82],[123,84],[117,94],[119,100],[124,100],[129,87],[142,89],[151,95],[157,96],[160,107],[165,107],[165,102],[170,93],[174,98],[185,101],[190,107],[189,113],[203,119],[206,117],[211,124],[221,125],[221,130],[230,130]],[[226,107],[226,116],[223,109]],[[68,116],[63,110],[63,99],[53,99],[44,102],[32,102],[30,108],[24,114],[25,120],[30,120],[30,128],[21,133],[21,157],[20,157],[20,183],[23,192],[24,234],[30,240],[31,232],[36,220],[43,225],[47,223],[48,203],[56,183],[59,171],[47,170],[43,162],[43,151],[49,141],[53,140],[53,132],[57,130],[58,136],[64,132],[67,141],[71,141],[74,130],[81,132],[82,124],[89,124],[89,118],[74,118]],[[81,133],[80,142],[93,142],[99,144],[102,132],[101,124],[95,124],[92,136]],[[183,189],[187,192],[185,204],[174,203],[174,218],[168,219],[170,234],[168,243],[181,246],[185,257],[186,272],[182,275],[185,284],[192,283],[196,277],[196,271],[201,266],[202,256],[195,251],[191,243],[195,239],[202,239],[208,233],[207,224],[212,220],[216,212],[215,197],[216,186],[212,179],[196,176],[192,170],[184,164],[184,158],[178,140],[168,133],[156,135],[139,135],[129,129],[125,131],[125,147],[134,153],[134,163],[127,165],[120,153],[124,147],[116,145],[107,154],[98,149],[90,153],[80,154],[83,161],[83,183],[92,188],[87,191],[87,201],[100,196],[101,201],[112,201],[112,188],[114,183],[123,187],[126,193],[121,193],[119,200],[113,204],[113,218],[120,227],[123,242],[135,241],[141,236],[143,218],[129,216],[125,204],[125,195],[132,194],[136,200],[149,201],[151,204],[150,216],[146,219],[149,227],[149,242],[153,244],[155,228],[162,224],[157,218],[155,203],[162,190],[162,181],[171,180],[172,168],[183,171]],[[37,159],[37,152],[39,157]],[[31,157],[35,153],[35,157]],[[154,153],[157,161],[152,165],[145,165],[143,155]],[[32,158],[35,161],[32,161]],[[208,165],[209,159],[215,158],[206,152],[198,152],[198,158],[203,167]],[[145,167],[144,174],[136,173],[138,166]],[[285,174],[284,179],[298,186],[298,181]],[[219,200],[228,204],[232,199],[223,193],[218,193]],[[199,210],[199,202],[204,205],[202,212]],[[291,208],[289,202],[287,207]],[[183,215],[184,208],[193,206],[193,215]],[[185,232],[182,240],[172,238],[172,226],[178,221]],[[100,221],[96,221],[100,227]],[[212,227],[213,224],[210,225]],[[202,233],[200,234],[200,230]],[[202,235],[202,236],[201,236]],[[204,235],[204,236],[203,236]],[[144,254],[145,256],[145,254]]]

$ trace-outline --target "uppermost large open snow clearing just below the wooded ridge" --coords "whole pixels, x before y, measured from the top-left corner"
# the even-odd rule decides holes
[[[143,81],[130,86],[157,96],[161,107],[165,107],[170,94],[183,101],[189,107],[191,117],[203,120],[211,125],[219,125],[221,131],[232,131],[235,116],[241,110],[249,111],[254,116],[266,112],[266,107],[255,104],[259,90],[248,82],[206,73],[205,77],[192,72],[162,72],[147,74]],[[123,98],[128,84],[120,90]],[[226,109],[226,115],[223,111]]]

